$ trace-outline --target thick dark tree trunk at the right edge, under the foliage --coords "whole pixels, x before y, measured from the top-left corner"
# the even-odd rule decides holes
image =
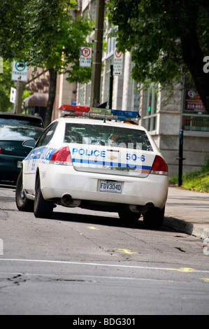
[[[203,52],[196,36],[196,30],[190,29],[189,33],[181,37],[182,55],[187,64],[196,90],[199,92],[201,100],[209,114],[209,73],[203,71]]]

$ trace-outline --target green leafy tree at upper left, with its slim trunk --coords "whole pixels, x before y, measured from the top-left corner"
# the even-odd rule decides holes
[[[24,60],[28,66],[44,67],[50,72],[45,125],[51,122],[57,74],[67,71],[69,80],[82,83],[91,78],[90,69],[79,68],[80,47],[87,45],[90,26],[78,15],[76,3],[75,0],[22,0],[14,1],[10,8],[8,0],[0,4],[0,12],[4,8],[11,22],[10,25],[0,14],[1,56]]]

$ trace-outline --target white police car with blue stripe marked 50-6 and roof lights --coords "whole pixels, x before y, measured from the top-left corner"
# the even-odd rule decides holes
[[[168,167],[138,112],[63,105],[22,162],[16,204],[50,218],[56,204],[117,211],[120,218],[160,228]]]

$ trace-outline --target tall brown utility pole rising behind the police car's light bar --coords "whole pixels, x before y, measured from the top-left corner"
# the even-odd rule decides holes
[[[100,104],[104,10],[105,10],[105,0],[96,0],[96,25],[95,25],[94,52],[93,52],[93,62],[92,62],[92,87],[91,87],[91,98],[90,98],[91,107],[97,107]]]

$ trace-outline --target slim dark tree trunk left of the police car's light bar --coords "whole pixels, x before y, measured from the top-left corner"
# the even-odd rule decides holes
[[[57,87],[57,71],[49,69],[50,72],[50,90],[48,105],[45,112],[45,127],[50,125],[52,119],[52,111],[55,103],[56,87]]]

